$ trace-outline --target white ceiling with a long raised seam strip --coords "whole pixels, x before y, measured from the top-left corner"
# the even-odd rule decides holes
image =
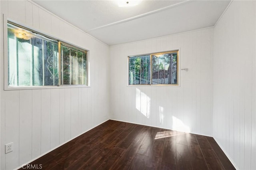
[[[230,0],[142,0],[128,7],[119,7],[118,0],[34,2],[98,40],[116,45],[214,26]]]

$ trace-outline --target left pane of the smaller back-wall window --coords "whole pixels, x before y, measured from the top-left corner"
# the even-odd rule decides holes
[[[129,85],[150,84],[150,55],[129,57]]]

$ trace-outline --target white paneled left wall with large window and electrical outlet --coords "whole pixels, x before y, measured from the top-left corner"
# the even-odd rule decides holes
[[[108,120],[108,45],[99,42],[31,1],[0,1],[9,20],[89,50],[86,88],[4,91],[1,32],[1,170],[14,169]],[[1,15],[1,28],[3,28]],[[2,29],[1,29],[2,31]],[[5,154],[4,144],[14,142]]]

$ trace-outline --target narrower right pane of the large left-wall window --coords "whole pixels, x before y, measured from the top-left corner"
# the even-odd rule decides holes
[[[62,85],[87,85],[86,52],[61,44]]]

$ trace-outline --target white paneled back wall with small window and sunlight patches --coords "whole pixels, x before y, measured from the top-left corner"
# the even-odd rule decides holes
[[[212,135],[213,29],[110,47],[112,119]],[[180,87],[128,87],[129,55],[180,49]]]

